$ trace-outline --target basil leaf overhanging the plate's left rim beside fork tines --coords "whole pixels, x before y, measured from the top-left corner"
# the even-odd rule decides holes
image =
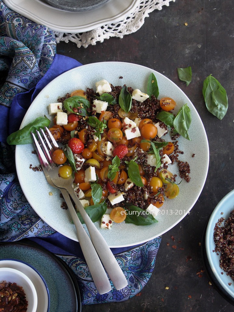
[[[9,145],[22,145],[32,143],[32,137],[30,132],[35,133],[40,128],[48,127],[50,119],[45,117],[37,117],[32,122],[27,124],[22,129],[19,129],[7,137],[7,143]]]

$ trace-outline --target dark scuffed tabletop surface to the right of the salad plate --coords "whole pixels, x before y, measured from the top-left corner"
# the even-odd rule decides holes
[[[161,11],[150,13],[137,32],[123,39],[110,38],[87,48],[61,42],[57,53],[82,64],[124,61],[164,74],[193,102],[210,148],[209,171],[202,193],[190,214],[162,236],[153,275],[141,294],[125,302],[83,306],[83,311],[234,311],[234,306],[209,284],[199,244],[207,218],[221,198],[234,188],[233,0],[176,0]],[[188,87],[177,75],[177,67],[187,66],[192,66],[193,72]],[[210,74],[227,91],[229,108],[222,120],[207,111],[203,100],[203,80]]]

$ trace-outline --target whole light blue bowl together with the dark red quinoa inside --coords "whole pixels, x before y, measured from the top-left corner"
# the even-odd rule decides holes
[[[231,277],[234,275],[234,263],[232,268],[230,266],[232,258],[229,257],[233,256],[234,261],[234,247],[228,247],[232,243],[230,238],[234,239],[234,225],[231,225],[231,222],[234,222],[234,190],[217,204],[206,230],[206,252],[211,270],[220,286],[234,298],[234,278]],[[228,232],[232,233],[230,237],[227,237]],[[228,243],[222,241],[225,238]]]

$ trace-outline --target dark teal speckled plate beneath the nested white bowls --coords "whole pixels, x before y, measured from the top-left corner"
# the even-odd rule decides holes
[[[59,258],[31,242],[1,243],[0,259],[17,259],[27,262],[43,276],[50,294],[50,312],[80,312],[81,303],[72,280],[70,268]],[[69,270],[68,270],[69,269]],[[38,311],[38,312],[46,312]]]

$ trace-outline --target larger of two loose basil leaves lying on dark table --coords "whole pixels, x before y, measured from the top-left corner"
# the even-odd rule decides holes
[[[203,82],[202,94],[207,110],[218,119],[223,119],[227,113],[227,92],[213,76],[208,76]]]

